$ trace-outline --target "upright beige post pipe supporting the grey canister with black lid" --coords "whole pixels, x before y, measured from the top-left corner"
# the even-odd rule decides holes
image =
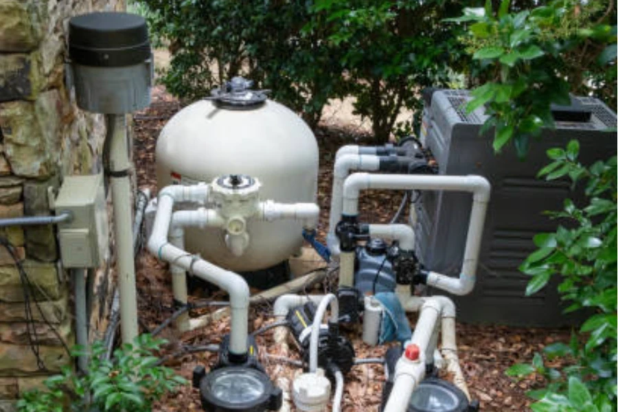
[[[108,132],[111,132],[111,136],[108,136],[111,138],[109,176],[114,211],[116,271],[120,290],[120,328],[122,341],[128,343],[135,339],[138,329],[126,119],[124,114],[106,115],[106,119]]]

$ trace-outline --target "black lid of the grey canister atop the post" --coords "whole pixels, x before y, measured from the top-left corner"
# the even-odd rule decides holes
[[[142,16],[95,12],[69,21],[69,56],[84,66],[123,67],[150,58],[148,26]]]

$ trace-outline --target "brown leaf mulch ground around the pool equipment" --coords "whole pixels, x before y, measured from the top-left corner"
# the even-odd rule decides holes
[[[157,136],[165,122],[181,108],[181,104],[161,87],[153,91],[150,108],[134,116],[134,161],[139,187],[148,186],[155,191],[155,145]],[[336,149],[343,144],[370,144],[367,135],[358,135],[345,125],[319,127],[315,135],[320,148],[319,194],[321,224],[319,238],[323,239],[328,229],[328,207],[330,205],[330,185],[332,182],[332,162]],[[401,194],[396,192],[368,192],[361,198],[361,218],[371,222],[387,222],[398,208]],[[142,328],[152,330],[172,314],[171,279],[167,265],[158,262],[146,251],[137,256],[137,282],[139,315]],[[199,296],[204,297],[204,296]],[[216,299],[216,296],[214,297]],[[201,312],[203,313],[203,312]],[[253,329],[271,321],[267,306],[251,310]],[[163,332],[170,341],[165,354],[173,353],[181,345],[204,345],[218,343],[220,337],[228,332],[227,319],[213,323],[200,330],[179,335],[173,329]],[[534,352],[556,341],[567,341],[569,330],[538,328],[509,328],[496,325],[466,325],[458,323],[457,339],[459,357],[473,398],[481,402],[482,411],[527,411],[529,399],[525,392],[538,387],[540,378],[515,381],[505,376],[505,370],[518,362],[529,362]],[[348,336],[359,358],[382,356],[385,347],[368,347],[358,333]],[[272,336],[266,332],[258,337],[260,359],[271,377],[288,378],[299,373],[297,367],[282,363],[282,355],[298,358],[297,351],[289,354],[278,353],[273,349]],[[167,363],[179,374],[190,379],[196,365],[210,365],[216,354],[208,352],[190,354],[174,358]],[[376,411],[380,404],[384,374],[380,365],[354,367],[345,377],[343,410]],[[196,389],[183,387],[161,399],[155,411],[201,411],[199,393]]]

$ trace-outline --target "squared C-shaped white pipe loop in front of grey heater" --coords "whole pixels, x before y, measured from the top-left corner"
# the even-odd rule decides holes
[[[368,174],[354,173],[343,184],[343,213],[358,214],[358,196],[361,190],[446,190],[472,193],[472,210],[468,223],[464,263],[459,278],[431,272],[427,284],[446,290],[453,295],[466,295],[476,281],[485,212],[490,198],[490,183],[482,176],[435,176],[426,174]]]

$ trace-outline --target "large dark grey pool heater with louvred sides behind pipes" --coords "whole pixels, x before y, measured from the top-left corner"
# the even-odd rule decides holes
[[[573,106],[556,113],[556,129],[532,139],[524,161],[512,146],[501,154],[492,148],[493,130],[481,136],[483,108],[466,113],[468,91],[439,90],[425,96],[421,139],[439,164],[439,174],[480,174],[492,184],[483,231],[477,284],[472,293],[455,297],[464,321],[510,325],[564,325],[577,321],[562,314],[556,291],[558,279],[525,297],[527,275],[518,266],[534,251],[536,233],[558,225],[543,214],[561,210],[565,198],[584,200],[572,192],[570,181],[544,181],[536,174],[549,163],[549,148],[580,141],[580,161],[592,164],[616,153],[616,115],[594,98],[573,98]],[[558,121],[558,119],[561,119]],[[610,131],[608,129],[613,129]],[[423,192],[415,203],[416,247],[421,262],[433,271],[459,275],[464,255],[470,194]]]

